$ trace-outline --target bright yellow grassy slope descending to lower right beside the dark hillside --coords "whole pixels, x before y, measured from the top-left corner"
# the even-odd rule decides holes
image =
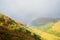
[[[57,37],[53,34],[49,34],[47,32],[44,32],[44,31],[41,31],[41,30],[38,30],[38,29],[33,28],[31,31],[40,35],[44,40],[60,40],[60,37]]]

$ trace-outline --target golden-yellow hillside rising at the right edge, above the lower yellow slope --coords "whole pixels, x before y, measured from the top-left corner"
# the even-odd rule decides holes
[[[60,21],[57,21],[47,32],[60,37]]]

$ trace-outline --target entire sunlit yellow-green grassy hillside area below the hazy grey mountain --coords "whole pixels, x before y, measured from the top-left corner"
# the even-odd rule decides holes
[[[43,25],[42,29],[33,27],[31,31],[40,35],[44,40],[60,40],[60,21]]]

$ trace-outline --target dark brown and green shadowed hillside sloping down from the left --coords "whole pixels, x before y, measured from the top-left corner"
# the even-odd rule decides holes
[[[0,14],[0,40],[41,40],[40,38],[23,24]]]

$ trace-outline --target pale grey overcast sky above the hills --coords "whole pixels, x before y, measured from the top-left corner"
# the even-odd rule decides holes
[[[0,12],[23,24],[37,17],[60,18],[60,0],[0,0]]]

